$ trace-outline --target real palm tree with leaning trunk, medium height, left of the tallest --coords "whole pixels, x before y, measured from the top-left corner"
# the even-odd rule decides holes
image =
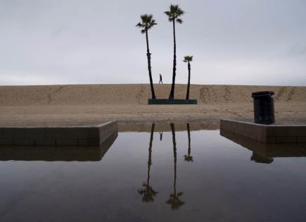
[[[141,28],[141,34],[146,34],[146,56],[148,58],[148,76],[150,78],[152,99],[156,99],[151,73],[151,53],[150,49],[148,48],[148,30],[151,29],[151,27],[153,27],[154,25],[157,25],[157,23],[155,23],[155,20],[153,19],[152,15],[144,14],[141,15],[140,18],[141,23],[138,23],[136,27]]]

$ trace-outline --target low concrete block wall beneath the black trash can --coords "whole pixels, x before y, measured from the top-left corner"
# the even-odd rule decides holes
[[[306,143],[306,125],[261,125],[221,119],[220,129],[269,144]]]

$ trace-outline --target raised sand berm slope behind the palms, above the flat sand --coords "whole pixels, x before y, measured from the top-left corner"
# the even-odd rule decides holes
[[[244,85],[191,85],[191,97],[198,104],[252,101],[251,92],[272,90],[275,101],[306,101],[306,87]],[[170,85],[155,85],[158,98],[167,98]],[[0,87],[1,106],[147,104],[149,85],[42,85]],[[186,85],[177,85],[176,98],[186,97]]]

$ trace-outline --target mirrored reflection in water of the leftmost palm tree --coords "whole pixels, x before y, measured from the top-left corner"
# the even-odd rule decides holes
[[[148,147],[148,176],[146,179],[146,183],[142,185],[144,188],[141,187],[138,190],[139,194],[142,195],[142,202],[154,202],[154,197],[158,194],[158,192],[153,190],[153,187],[150,186],[150,169],[152,165],[152,141],[153,141],[154,128],[155,124],[152,124],[150,144]]]

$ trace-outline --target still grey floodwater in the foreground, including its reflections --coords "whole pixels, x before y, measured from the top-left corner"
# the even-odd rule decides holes
[[[306,148],[134,129],[101,148],[1,147],[0,221],[305,221]]]

